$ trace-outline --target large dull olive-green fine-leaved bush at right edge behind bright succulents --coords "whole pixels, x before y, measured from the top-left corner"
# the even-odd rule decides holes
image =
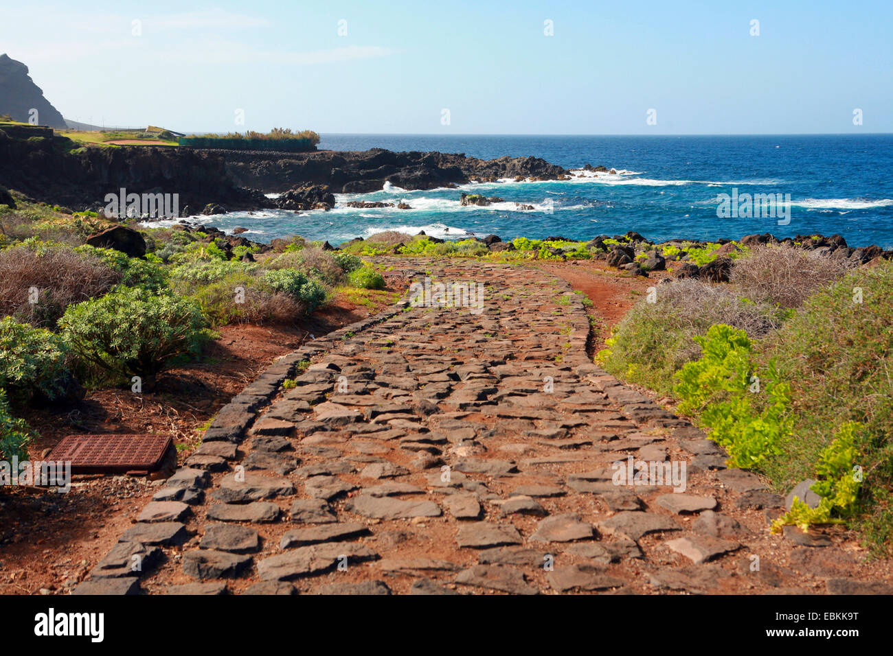
[[[865,480],[855,527],[872,550],[893,545],[893,262],[850,272],[811,296],[784,326],[760,340],[761,366],[776,363],[791,388],[797,424],[779,458],[762,470],[781,491],[814,474],[849,422],[862,428]],[[861,300],[861,303],[858,301]]]

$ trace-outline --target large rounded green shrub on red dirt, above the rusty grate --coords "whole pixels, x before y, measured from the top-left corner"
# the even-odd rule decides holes
[[[117,287],[72,305],[59,321],[71,349],[118,376],[154,376],[179,355],[199,353],[208,337],[195,303],[143,287]]]

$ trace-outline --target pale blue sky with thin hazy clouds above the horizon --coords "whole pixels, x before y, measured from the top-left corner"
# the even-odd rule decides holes
[[[890,0],[7,4],[0,53],[97,125],[893,132]]]

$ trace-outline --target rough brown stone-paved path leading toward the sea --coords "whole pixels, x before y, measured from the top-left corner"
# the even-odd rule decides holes
[[[563,281],[389,263],[482,283],[483,311],[404,302],[278,361],[75,594],[889,592],[772,536],[783,500],[599,370]],[[615,485],[630,456],[687,486]]]

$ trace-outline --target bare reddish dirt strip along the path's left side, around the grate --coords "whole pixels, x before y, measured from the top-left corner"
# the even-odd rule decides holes
[[[402,278],[388,278],[402,292]],[[380,304],[381,307],[384,303]],[[89,392],[75,407],[32,409],[23,416],[39,438],[29,445],[37,460],[66,435],[164,433],[179,461],[198,445],[204,425],[280,355],[380,311],[343,298],[294,326],[238,324],[219,328],[201,361],[159,376],[152,392],[127,388]],[[157,484],[145,477],[73,477],[67,494],[38,488],[0,493],[0,594],[46,594],[76,585],[117,542],[151,500]]]

